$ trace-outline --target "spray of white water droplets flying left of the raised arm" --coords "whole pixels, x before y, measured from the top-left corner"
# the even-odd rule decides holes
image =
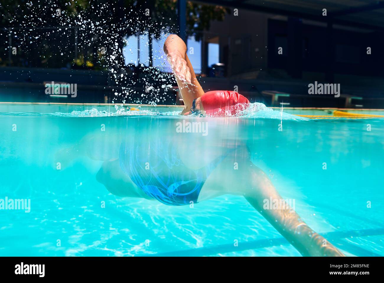
[[[101,0],[6,4],[0,4],[0,15],[9,18],[9,28],[0,30],[0,35],[12,38],[12,45],[29,55],[29,65],[40,60],[39,64],[52,67],[50,64],[60,60],[68,69],[106,70],[112,103],[157,104],[174,95],[169,90],[176,81],[171,73],[164,72],[168,63],[162,52],[162,42],[171,32],[177,32],[171,11],[148,16],[144,13],[147,3],[139,1],[132,1],[129,7]],[[161,51],[157,53],[152,46],[152,56],[146,60],[158,60],[157,67],[148,67],[146,62],[125,65],[123,51],[139,49],[129,45],[129,35],[144,39],[140,48],[158,45]]]

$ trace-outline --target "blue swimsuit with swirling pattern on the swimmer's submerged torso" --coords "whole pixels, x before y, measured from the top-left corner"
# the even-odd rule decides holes
[[[172,141],[164,140],[147,146],[122,142],[120,166],[141,190],[166,205],[197,203],[204,182],[225,156],[191,170],[180,160],[177,148]]]

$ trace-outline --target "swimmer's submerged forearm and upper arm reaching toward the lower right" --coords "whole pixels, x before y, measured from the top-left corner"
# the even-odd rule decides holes
[[[265,173],[253,165],[250,170],[251,188],[245,193],[247,201],[268,220],[303,256],[345,256],[323,236],[313,231],[295,211],[289,208],[263,208],[264,200],[282,200]]]

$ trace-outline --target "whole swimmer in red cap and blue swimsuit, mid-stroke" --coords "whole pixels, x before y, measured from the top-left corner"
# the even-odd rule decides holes
[[[182,115],[197,111],[214,116],[237,115],[250,104],[236,92],[204,93],[186,55],[185,43],[170,35],[164,51],[174,70],[185,103]],[[222,195],[247,200],[303,256],[344,256],[323,236],[313,231],[288,205],[265,209],[265,200],[283,200],[268,176],[251,160],[248,146],[237,138],[210,129],[209,139],[200,135],[174,135],[163,128],[148,127],[136,119],[108,135],[98,131],[63,151],[65,156],[85,155],[101,160],[96,175],[108,191],[118,196],[145,198],[165,205],[190,205]],[[229,120],[228,126],[236,125]],[[135,124],[134,124],[135,123]],[[169,124],[169,127],[165,125]],[[139,128],[140,135],[128,130]],[[239,170],[233,170],[238,163]]]

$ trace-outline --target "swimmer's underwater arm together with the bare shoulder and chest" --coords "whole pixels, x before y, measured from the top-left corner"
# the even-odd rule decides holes
[[[217,147],[220,154],[220,146]],[[184,162],[199,163],[204,158],[187,158],[180,155]],[[196,156],[193,155],[192,156]],[[238,170],[233,168],[238,163]],[[225,172],[225,177],[223,176]],[[283,200],[268,176],[253,164],[246,146],[238,146],[217,165],[200,191],[199,201],[215,196],[231,194],[242,195],[264,218],[298,250],[303,256],[344,256],[323,236],[313,231],[295,211],[289,207],[265,209],[265,200]],[[284,201],[285,203],[285,201]],[[272,207],[275,208],[275,207]]]

